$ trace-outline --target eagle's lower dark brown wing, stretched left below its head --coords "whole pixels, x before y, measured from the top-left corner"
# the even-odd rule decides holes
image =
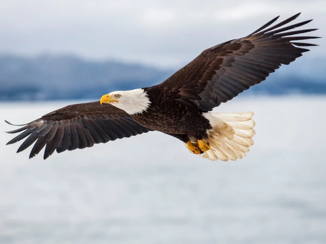
[[[60,108],[24,124],[22,128],[8,131],[7,133],[22,133],[7,144],[19,142],[28,136],[17,152],[25,150],[37,140],[29,158],[33,158],[46,146],[44,159],[47,159],[54,150],[61,153],[92,147],[96,143],[115,141],[117,138],[136,136],[148,131],[150,129],[111,104],[87,102]]]

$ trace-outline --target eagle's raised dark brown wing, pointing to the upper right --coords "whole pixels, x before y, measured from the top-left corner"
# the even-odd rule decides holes
[[[289,64],[309,51],[301,46],[315,46],[296,41],[318,37],[293,35],[317,29],[286,32],[311,20],[279,28],[299,15],[267,28],[277,17],[247,37],[206,49],[158,86],[166,91],[166,96],[173,96],[201,111],[211,111],[221,102],[227,102],[264,81],[281,64]]]

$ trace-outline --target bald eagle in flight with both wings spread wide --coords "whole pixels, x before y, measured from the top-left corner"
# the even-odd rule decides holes
[[[316,29],[292,30],[311,20],[284,26],[299,15],[269,27],[276,17],[246,37],[210,47],[160,84],[111,92],[99,102],[69,105],[20,125],[7,132],[22,132],[7,144],[28,136],[17,152],[36,141],[29,158],[46,146],[47,159],[55,150],[92,147],[156,130],[181,140],[201,157],[241,159],[254,143],[254,113],[210,111],[309,51],[302,46],[315,46],[297,41],[318,37],[295,35]]]

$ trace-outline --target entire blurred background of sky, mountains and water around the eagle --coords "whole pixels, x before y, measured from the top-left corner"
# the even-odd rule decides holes
[[[214,110],[255,112],[242,160],[158,132],[28,160],[2,133],[0,244],[326,243],[325,0],[0,0],[0,129],[162,82],[298,12],[320,46]]]

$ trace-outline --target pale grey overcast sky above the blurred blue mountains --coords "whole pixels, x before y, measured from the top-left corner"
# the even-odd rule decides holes
[[[246,36],[272,18],[297,21],[324,39],[325,0],[0,0],[0,54],[75,54],[175,67],[202,50]]]

